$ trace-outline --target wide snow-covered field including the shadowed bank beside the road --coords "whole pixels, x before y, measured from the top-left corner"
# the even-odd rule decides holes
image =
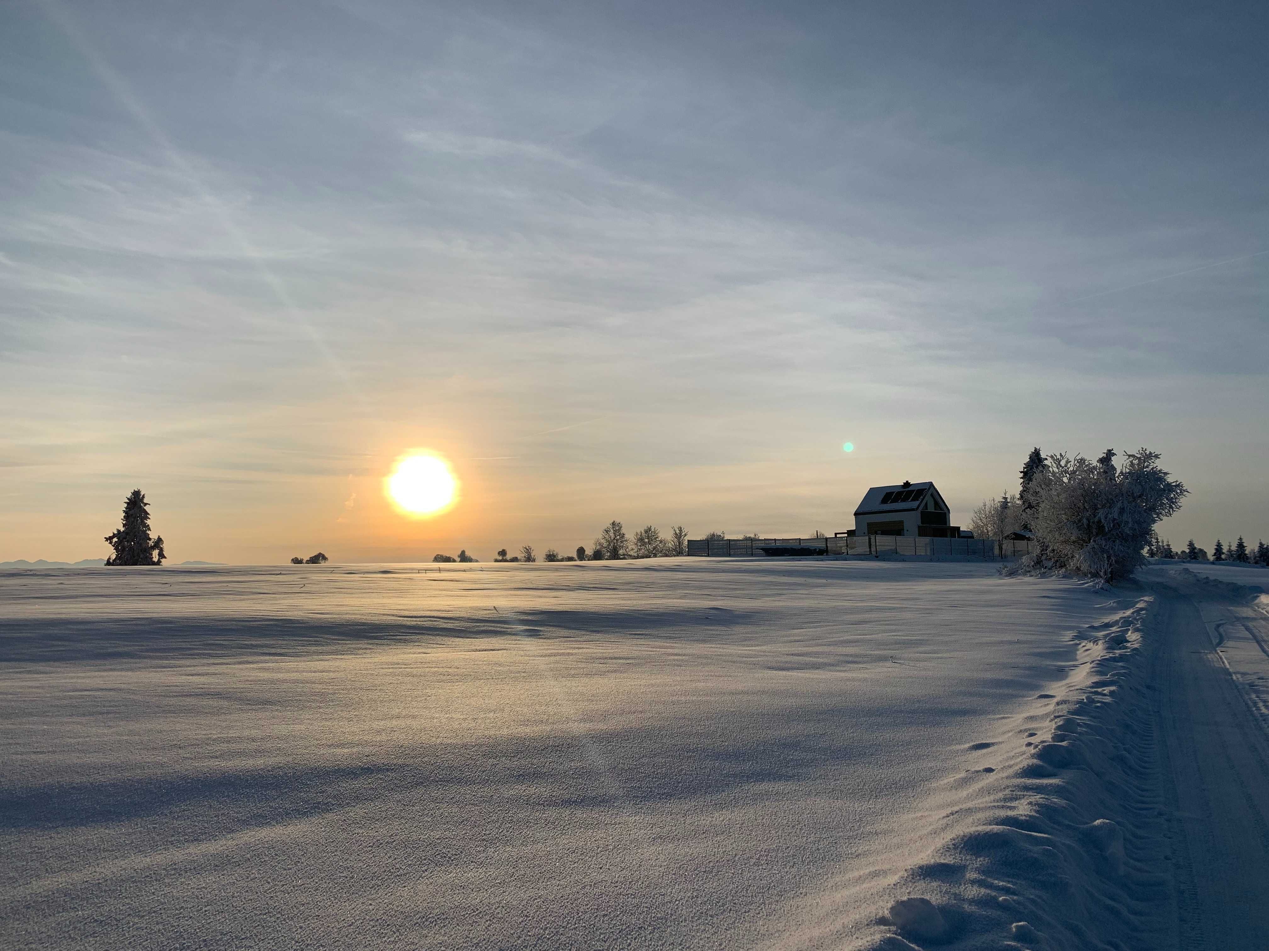
[[[774,559],[0,574],[0,945],[1166,947],[1137,593]]]

